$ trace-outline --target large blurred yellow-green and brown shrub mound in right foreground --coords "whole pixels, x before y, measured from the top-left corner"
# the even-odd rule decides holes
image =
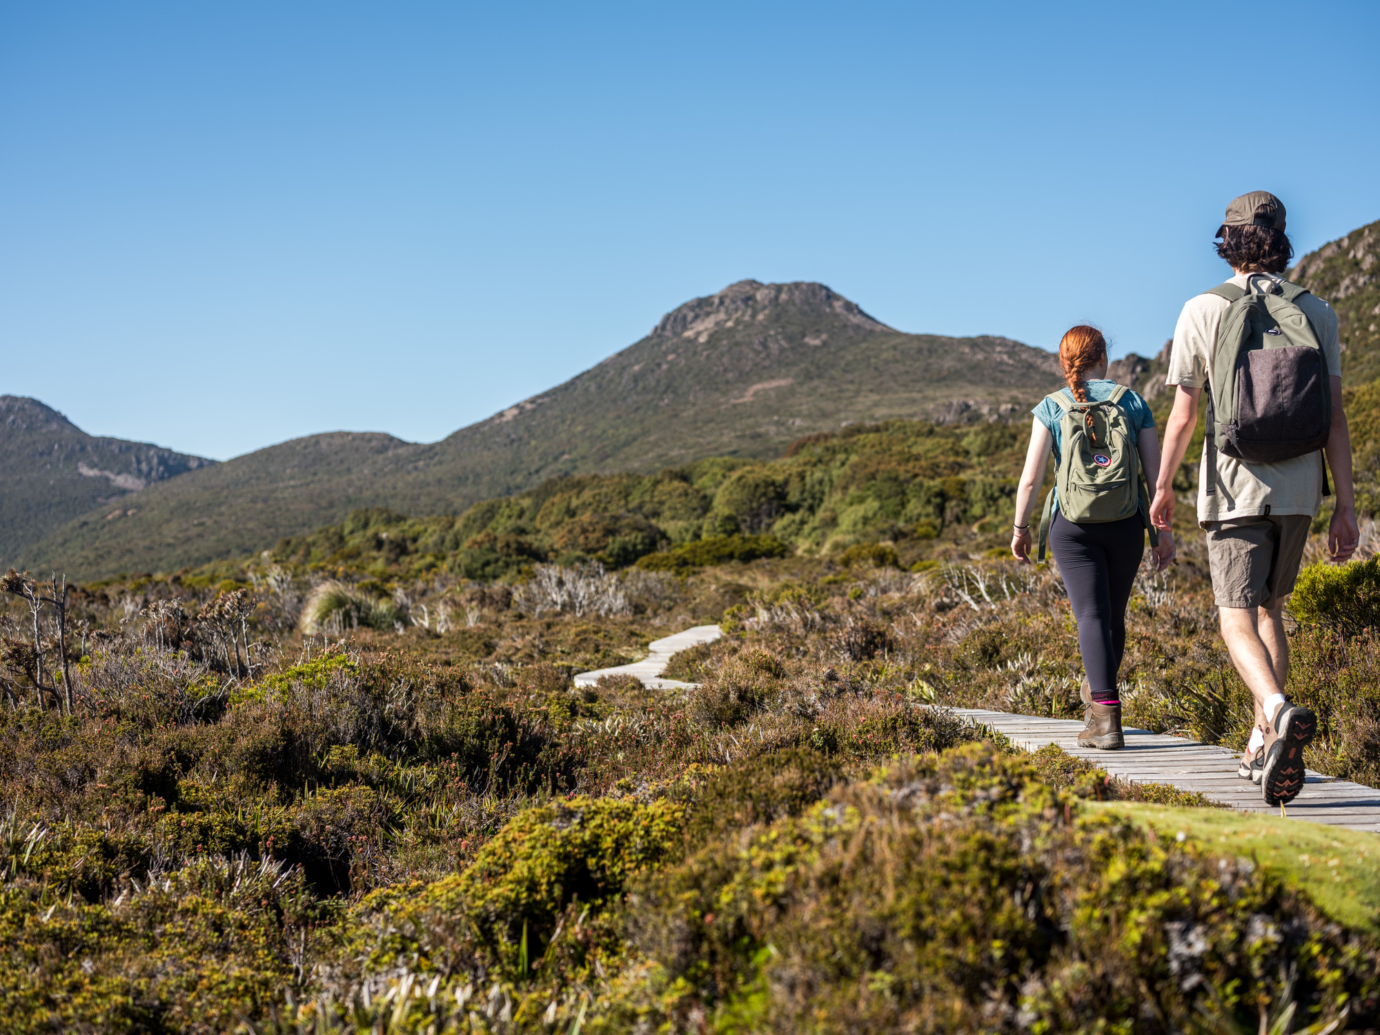
[[[1380,948],[1249,860],[1082,814],[989,747],[894,765],[711,843],[629,905],[644,959],[599,1029],[1183,1031],[1303,1014],[1373,1024]]]

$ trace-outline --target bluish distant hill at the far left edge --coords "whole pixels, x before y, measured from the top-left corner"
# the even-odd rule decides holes
[[[37,399],[0,396],[0,564],[11,564],[79,515],[124,515],[128,497],[214,460],[145,442],[87,435]]]

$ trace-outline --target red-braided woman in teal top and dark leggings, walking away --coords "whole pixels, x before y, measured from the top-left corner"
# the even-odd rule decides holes
[[[1087,326],[1070,328],[1058,344],[1058,362],[1068,388],[1046,396],[1032,411],[1031,444],[1016,491],[1012,553],[1031,563],[1031,512],[1045,480],[1046,460],[1053,453],[1058,475],[1056,489],[1050,490],[1054,498],[1049,545],[1074,606],[1078,649],[1083,656],[1086,723],[1078,742],[1121,748],[1126,741],[1116,671],[1126,646],[1126,603],[1150,527],[1150,500],[1141,487],[1141,472],[1148,484],[1155,484],[1159,440],[1145,400],[1107,379],[1107,339],[1101,331]],[[1085,410],[1081,403],[1105,406]],[[1065,429],[1076,439],[1068,457],[1061,453],[1068,446]],[[1056,495],[1060,486],[1067,500]],[[1065,511],[1076,520],[1065,518]],[[1167,531],[1159,531],[1154,558],[1158,571],[1174,559]]]

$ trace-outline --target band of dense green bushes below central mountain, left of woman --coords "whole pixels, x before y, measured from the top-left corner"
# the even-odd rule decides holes
[[[914,563],[959,540],[969,549],[1005,542],[996,518],[1013,506],[1023,436],[1005,422],[857,425],[807,436],[774,461],[718,457],[656,475],[551,479],[460,516],[359,512],[284,538],[273,555],[477,580],[542,560],[686,567],[773,552],[842,555],[869,544],[874,552],[885,544],[880,556],[893,563]]]

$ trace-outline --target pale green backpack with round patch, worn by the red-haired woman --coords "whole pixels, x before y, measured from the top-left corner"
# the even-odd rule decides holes
[[[1116,385],[1111,399],[1079,403],[1063,392],[1047,396],[1063,411],[1058,428],[1064,440],[1054,472],[1054,491],[1045,497],[1045,515],[1039,523],[1039,560],[1045,560],[1049,526],[1054,520],[1054,495],[1064,520],[1075,524],[1119,522],[1140,513],[1150,530],[1151,545],[1159,535],[1150,523],[1150,491],[1140,468],[1140,451],[1126,422],[1126,413],[1116,404],[1126,395],[1126,385]]]

